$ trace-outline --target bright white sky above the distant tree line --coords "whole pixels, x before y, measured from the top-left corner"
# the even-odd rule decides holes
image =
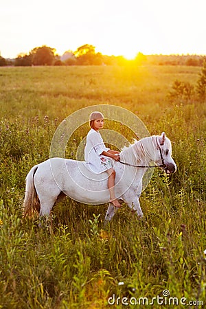
[[[0,53],[84,44],[102,54],[206,55],[205,0],[0,0]]]

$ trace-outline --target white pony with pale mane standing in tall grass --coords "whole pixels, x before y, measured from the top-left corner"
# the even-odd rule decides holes
[[[145,137],[120,152],[120,161],[114,161],[115,195],[141,217],[139,205],[142,179],[151,162],[167,174],[176,171],[172,146],[165,133]],[[154,165],[153,165],[154,166]],[[49,215],[54,204],[65,196],[85,204],[109,202],[107,173],[93,174],[84,161],[52,158],[35,165],[26,178],[24,215]],[[105,220],[113,218],[117,208],[108,205]]]

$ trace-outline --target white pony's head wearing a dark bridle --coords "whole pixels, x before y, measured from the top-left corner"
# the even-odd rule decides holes
[[[153,137],[155,145],[155,163],[161,165],[161,168],[166,174],[176,172],[176,164],[172,159],[172,145],[170,139],[166,137],[165,133],[160,136]]]

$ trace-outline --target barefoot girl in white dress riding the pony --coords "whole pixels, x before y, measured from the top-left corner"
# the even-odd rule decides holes
[[[112,158],[119,161],[119,151],[106,148],[99,130],[104,126],[104,116],[102,113],[95,111],[89,116],[89,124],[91,130],[87,134],[87,144],[84,149],[84,159],[89,165],[89,168],[95,174],[102,172],[108,173],[108,190],[110,193],[110,203],[115,207],[121,207],[115,197],[115,170],[111,164]]]

